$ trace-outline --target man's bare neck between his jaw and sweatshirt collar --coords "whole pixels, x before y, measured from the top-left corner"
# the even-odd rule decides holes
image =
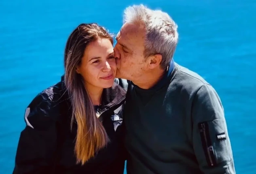
[[[135,79],[132,82],[142,89],[150,89],[163,78],[165,73],[166,70],[158,68],[154,71],[144,73],[144,75],[140,76],[138,79]]]

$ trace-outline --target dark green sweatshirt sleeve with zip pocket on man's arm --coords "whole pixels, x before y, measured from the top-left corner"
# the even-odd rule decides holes
[[[235,174],[224,109],[211,85],[203,85],[192,106],[193,147],[204,174]]]

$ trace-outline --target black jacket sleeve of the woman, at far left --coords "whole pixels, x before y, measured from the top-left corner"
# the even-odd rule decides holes
[[[13,174],[47,174],[53,170],[57,146],[54,107],[49,99],[36,96],[25,110]]]

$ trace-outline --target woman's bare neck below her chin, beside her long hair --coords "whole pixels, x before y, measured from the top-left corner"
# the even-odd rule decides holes
[[[102,103],[103,88],[85,84],[94,106],[99,106]]]

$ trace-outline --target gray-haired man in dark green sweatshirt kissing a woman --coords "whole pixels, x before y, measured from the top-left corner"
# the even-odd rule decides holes
[[[235,174],[224,110],[214,88],[173,62],[176,23],[130,6],[114,48],[131,83],[124,110],[128,174]]]

